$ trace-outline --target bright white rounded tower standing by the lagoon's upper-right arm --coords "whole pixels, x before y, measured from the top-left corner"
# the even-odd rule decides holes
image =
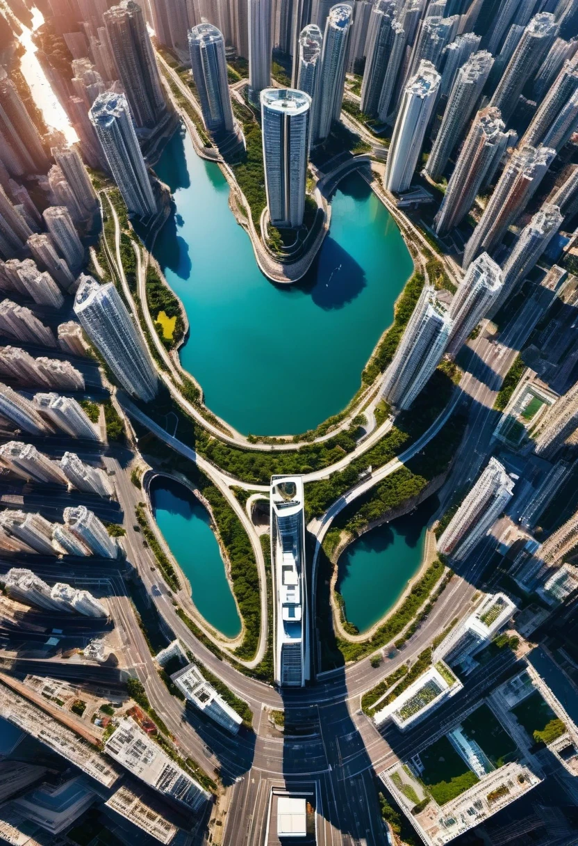
[[[434,110],[439,80],[434,65],[423,61],[406,85],[385,168],[384,182],[388,191],[406,191],[412,183],[423,136]]]

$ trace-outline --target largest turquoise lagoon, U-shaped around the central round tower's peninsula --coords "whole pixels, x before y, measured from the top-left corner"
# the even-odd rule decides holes
[[[155,170],[176,203],[155,255],[187,310],[181,361],[205,404],[259,435],[298,434],[345,408],[413,269],[368,184],[358,173],[339,184],[308,276],[275,285],[228,207],[221,170],[188,135],[172,138]]]

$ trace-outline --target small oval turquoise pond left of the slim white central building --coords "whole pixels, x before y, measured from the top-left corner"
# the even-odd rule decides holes
[[[221,634],[237,637],[241,619],[206,508],[188,488],[162,476],[150,484],[150,502],[199,613]]]

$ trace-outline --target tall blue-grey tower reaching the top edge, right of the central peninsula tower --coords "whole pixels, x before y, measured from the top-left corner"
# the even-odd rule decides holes
[[[345,84],[347,42],[352,25],[352,7],[337,3],[330,9],[325,24],[321,80],[319,84],[319,140],[324,141],[331,124],[339,120]]]

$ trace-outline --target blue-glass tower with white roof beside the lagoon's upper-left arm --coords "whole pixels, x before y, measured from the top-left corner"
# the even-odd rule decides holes
[[[127,98],[123,94],[113,94],[112,91],[101,94],[92,104],[90,120],[128,211],[139,217],[152,217],[157,211],[155,195],[134,131]]]

